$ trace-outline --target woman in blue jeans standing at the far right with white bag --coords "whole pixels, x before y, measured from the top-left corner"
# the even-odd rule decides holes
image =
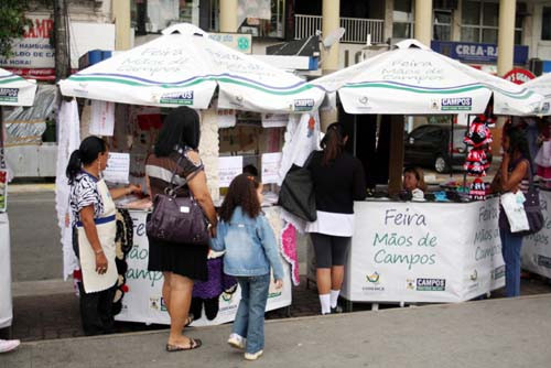
[[[520,128],[506,125],[503,136],[504,156],[496,177],[503,193],[522,191],[528,193],[531,156],[525,132]],[[499,207],[499,235],[505,261],[506,295],[520,295],[520,249],[522,236],[510,231],[504,208]]]

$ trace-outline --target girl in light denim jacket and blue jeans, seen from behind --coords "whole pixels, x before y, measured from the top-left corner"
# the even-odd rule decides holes
[[[258,359],[264,348],[264,311],[270,286],[270,266],[276,286],[283,284],[283,266],[276,237],[260,210],[262,185],[248,174],[229,185],[220,208],[217,236],[210,247],[226,250],[224,272],[237,278],[241,300],[228,344],[245,348],[245,359]]]

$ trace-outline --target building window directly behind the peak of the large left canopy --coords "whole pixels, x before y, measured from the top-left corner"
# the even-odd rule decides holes
[[[137,34],[159,33],[171,24],[198,25],[199,0],[131,0],[131,21]]]

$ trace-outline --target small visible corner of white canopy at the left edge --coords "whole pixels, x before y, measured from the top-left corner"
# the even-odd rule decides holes
[[[0,68],[0,106],[31,106],[36,82]]]

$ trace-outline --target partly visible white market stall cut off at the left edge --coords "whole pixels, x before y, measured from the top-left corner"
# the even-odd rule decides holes
[[[4,161],[2,106],[31,106],[36,84],[0,68],[0,328],[11,326],[11,259],[8,217],[9,172]]]

